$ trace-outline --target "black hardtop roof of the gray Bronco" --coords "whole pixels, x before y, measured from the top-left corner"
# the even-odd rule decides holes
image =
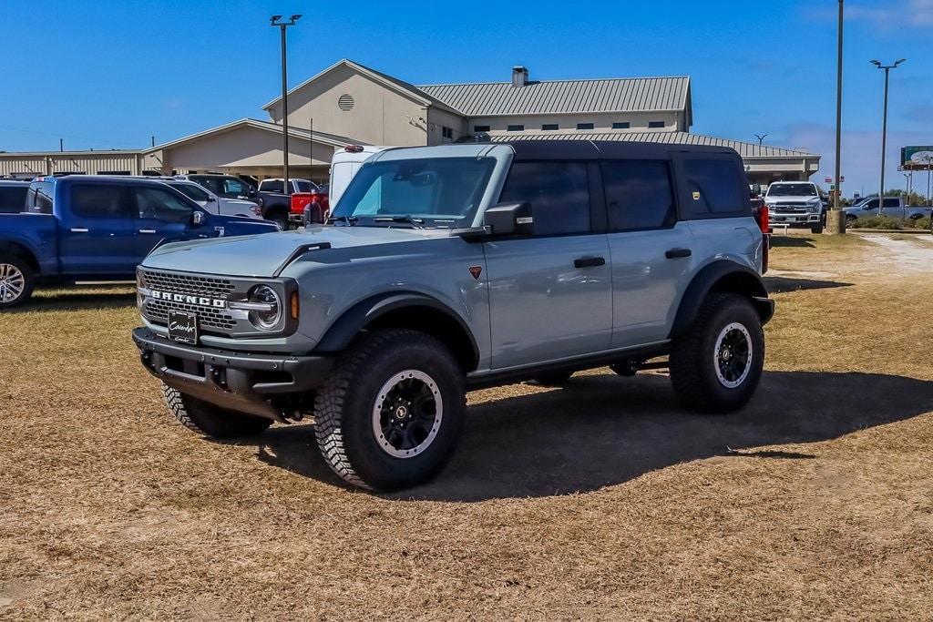
[[[739,158],[735,149],[715,145],[680,145],[642,143],[638,141],[569,141],[531,140],[508,141],[515,159],[670,159],[672,154],[728,154]]]

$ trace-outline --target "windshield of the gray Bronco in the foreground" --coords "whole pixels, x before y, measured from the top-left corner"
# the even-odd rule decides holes
[[[364,164],[334,208],[346,224],[466,228],[480,205],[494,158],[397,159]],[[341,224],[338,220],[337,224]]]

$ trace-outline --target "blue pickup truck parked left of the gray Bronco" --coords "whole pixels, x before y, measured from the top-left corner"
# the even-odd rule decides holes
[[[36,283],[129,281],[165,242],[278,231],[210,214],[160,181],[70,175],[36,179],[19,214],[0,214],[0,311]]]

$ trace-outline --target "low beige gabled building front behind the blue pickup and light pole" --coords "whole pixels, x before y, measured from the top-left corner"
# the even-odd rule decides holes
[[[293,177],[326,182],[334,151],[358,141],[326,132],[288,128],[288,166]],[[146,170],[161,174],[230,173],[281,177],[282,126],[243,118],[156,145],[144,152]]]

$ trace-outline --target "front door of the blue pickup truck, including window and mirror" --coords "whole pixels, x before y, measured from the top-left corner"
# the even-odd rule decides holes
[[[195,227],[193,201],[170,190],[153,186],[132,186],[133,204],[138,216],[136,263],[143,260],[157,244],[208,237],[208,228]]]

